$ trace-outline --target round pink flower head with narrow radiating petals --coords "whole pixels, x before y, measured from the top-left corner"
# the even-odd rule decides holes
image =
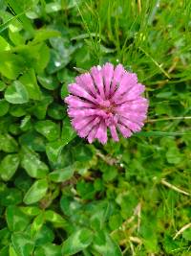
[[[121,64],[116,68],[111,63],[94,66],[76,77],[75,83],[69,84],[71,95],[65,103],[77,134],[89,143],[97,139],[105,144],[108,128],[115,141],[117,131],[125,138],[139,131],[148,108],[148,101],[141,96],[144,88],[137,75]]]

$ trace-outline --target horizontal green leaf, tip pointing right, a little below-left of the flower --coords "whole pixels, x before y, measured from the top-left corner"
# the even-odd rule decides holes
[[[53,182],[64,182],[69,180],[74,175],[74,166],[68,166],[64,169],[58,169],[49,174]]]

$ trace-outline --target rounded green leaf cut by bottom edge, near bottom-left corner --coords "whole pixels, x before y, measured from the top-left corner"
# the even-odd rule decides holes
[[[33,242],[29,235],[25,233],[14,233],[11,236],[11,242],[19,256],[31,256],[33,251]]]

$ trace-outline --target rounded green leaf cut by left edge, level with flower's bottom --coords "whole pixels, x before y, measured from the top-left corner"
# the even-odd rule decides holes
[[[0,134],[0,151],[15,152],[18,150],[18,144],[10,134]]]

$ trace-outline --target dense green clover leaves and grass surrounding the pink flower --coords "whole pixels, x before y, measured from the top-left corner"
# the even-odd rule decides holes
[[[1,256],[190,255],[190,9],[0,1]],[[89,145],[63,99],[106,61],[138,73],[149,116],[129,139]]]

